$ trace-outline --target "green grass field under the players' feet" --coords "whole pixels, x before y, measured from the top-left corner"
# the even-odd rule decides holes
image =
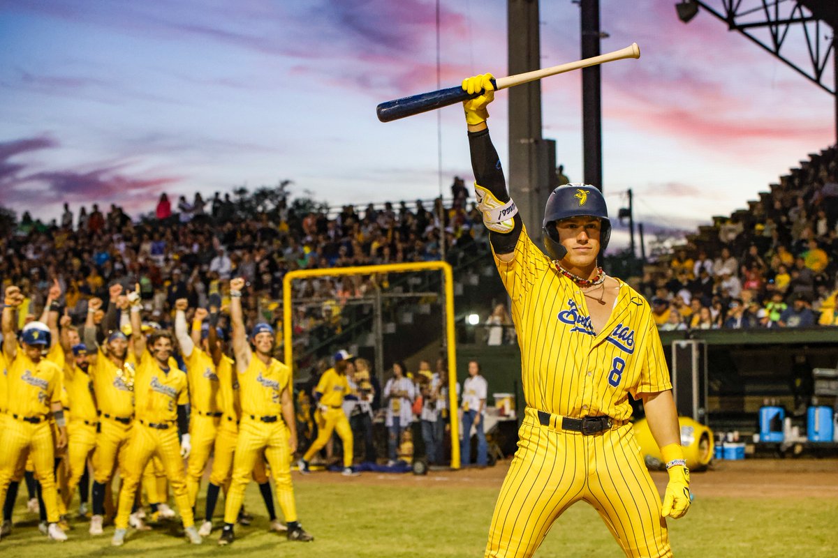
[[[289,557],[414,557],[482,556],[497,489],[434,484],[431,477],[417,486],[339,482],[332,475],[313,475],[296,483],[297,505],[313,543],[291,543],[267,532],[264,506],[254,484],[246,494],[256,514],[250,527],[237,527],[234,545],[219,547],[215,531],[202,546],[190,546],[163,526],[151,532],[129,533],[122,548],[110,545],[113,528],[92,539],[86,523],[75,523],[70,540],[49,541],[37,530],[32,514],[18,498],[13,534],[0,540],[0,555],[10,558],[61,556],[222,556]],[[25,490],[22,490],[25,492]],[[223,499],[219,504],[219,512]],[[203,501],[199,502],[203,509]],[[679,558],[761,558],[772,556],[835,556],[838,502],[826,498],[696,499],[690,513],[670,521],[670,540]],[[220,518],[218,519],[220,521]],[[172,527],[175,524],[171,524]],[[597,513],[577,504],[553,526],[541,557],[622,556]]]

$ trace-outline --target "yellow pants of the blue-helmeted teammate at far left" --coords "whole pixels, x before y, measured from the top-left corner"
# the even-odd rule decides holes
[[[32,458],[35,474],[41,484],[41,494],[47,509],[47,521],[59,520],[58,489],[55,486],[54,446],[49,422],[23,422],[8,419],[0,435],[0,502],[6,501],[6,490],[18,468],[18,460],[24,452]]]

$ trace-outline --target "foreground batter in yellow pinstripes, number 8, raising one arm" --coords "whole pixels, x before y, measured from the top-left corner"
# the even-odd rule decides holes
[[[548,258],[506,191],[489,139],[491,75],[463,81],[475,195],[500,278],[512,300],[526,400],[518,451],[495,504],[486,556],[531,556],[556,518],[584,500],[628,556],[671,556],[665,517],[690,505],[689,473],[660,338],[649,304],[608,277],[597,256],[611,224],[585,184],[548,198]],[[634,441],[629,393],[643,399],[670,482],[663,506]]]

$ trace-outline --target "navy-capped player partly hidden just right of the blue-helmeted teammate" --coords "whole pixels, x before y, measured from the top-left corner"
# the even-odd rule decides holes
[[[89,375],[87,346],[78,343],[72,346],[71,351],[75,358],[67,359],[64,370],[64,388],[70,414],[70,420],[67,422],[66,459],[69,473],[65,489],[61,493],[65,509],[70,508],[73,493],[87,468],[87,458],[96,448],[96,427],[99,424],[96,401],[93,398],[93,381]]]

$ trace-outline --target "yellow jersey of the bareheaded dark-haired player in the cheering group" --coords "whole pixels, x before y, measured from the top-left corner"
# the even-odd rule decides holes
[[[142,354],[134,380],[134,412],[137,420],[146,422],[175,422],[178,405],[189,402],[189,381],[178,363],[168,359],[168,373],[150,352]]]

